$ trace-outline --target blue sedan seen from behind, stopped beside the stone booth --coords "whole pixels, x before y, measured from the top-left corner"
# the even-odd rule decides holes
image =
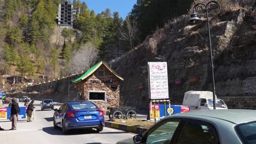
[[[68,101],[54,111],[54,127],[62,128],[63,133],[71,129],[92,128],[100,133],[105,125],[104,112],[90,101]]]

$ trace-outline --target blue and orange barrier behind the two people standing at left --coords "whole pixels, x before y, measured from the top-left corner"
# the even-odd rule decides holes
[[[0,120],[7,120],[10,118],[10,113],[11,113],[11,107],[0,107]],[[20,106],[20,113],[18,116],[18,120],[26,120],[27,115],[26,115],[26,106]]]

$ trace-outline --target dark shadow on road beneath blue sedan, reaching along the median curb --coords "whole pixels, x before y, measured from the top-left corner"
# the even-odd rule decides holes
[[[75,129],[69,130],[68,134],[63,134],[61,128],[54,128],[54,127],[45,127],[43,128],[45,133],[50,135],[84,135],[84,134],[96,134],[96,129]],[[110,131],[110,132],[100,132],[99,134],[121,134],[127,133],[126,131]],[[91,143],[92,144],[92,143]],[[97,144],[97,142],[95,143]],[[105,144],[105,143],[102,143]]]

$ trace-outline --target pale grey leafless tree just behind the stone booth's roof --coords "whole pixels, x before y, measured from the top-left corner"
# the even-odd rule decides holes
[[[82,70],[87,70],[92,67],[98,58],[98,50],[96,46],[92,43],[86,43],[78,51],[73,53],[70,65],[70,72],[77,73]]]

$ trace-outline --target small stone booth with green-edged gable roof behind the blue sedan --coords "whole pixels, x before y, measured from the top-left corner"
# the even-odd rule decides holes
[[[119,85],[123,80],[107,63],[101,61],[72,82],[79,94],[78,99],[93,101],[107,111],[108,106],[119,106]]]

